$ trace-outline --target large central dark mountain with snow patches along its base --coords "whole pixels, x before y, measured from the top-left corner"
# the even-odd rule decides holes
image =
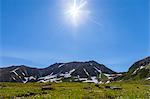
[[[107,81],[117,76],[116,72],[95,61],[56,63],[49,67],[48,73],[49,74],[40,77],[39,81],[79,81],[98,83],[104,80],[104,78],[105,81]]]

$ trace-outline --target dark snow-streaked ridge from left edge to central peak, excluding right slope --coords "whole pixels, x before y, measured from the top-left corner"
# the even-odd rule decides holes
[[[118,74],[95,61],[55,63],[38,69],[24,65],[0,68],[0,82],[109,82]]]

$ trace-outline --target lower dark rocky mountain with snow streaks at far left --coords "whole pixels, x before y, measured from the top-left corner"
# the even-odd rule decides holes
[[[39,69],[24,65],[0,68],[0,82],[36,81],[40,74]]]

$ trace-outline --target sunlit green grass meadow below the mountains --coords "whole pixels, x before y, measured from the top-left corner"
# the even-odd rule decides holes
[[[149,81],[124,81],[111,84],[94,83],[0,83],[0,99],[150,99]],[[48,86],[51,90],[42,90]],[[118,86],[122,90],[106,89]]]

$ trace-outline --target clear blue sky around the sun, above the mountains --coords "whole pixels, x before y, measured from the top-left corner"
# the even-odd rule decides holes
[[[1,0],[0,66],[95,60],[126,71],[150,55],[148,0],[87,0],[76,27],[68,1]]]

